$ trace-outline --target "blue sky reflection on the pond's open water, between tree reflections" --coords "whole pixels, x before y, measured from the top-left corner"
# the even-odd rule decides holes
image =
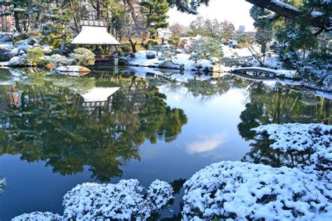
[[[249,150],[237,131],[240,113],[244,110],[244,91],[231,89],[226,94],[209,99],[193,97],[186,87],[177,85],[175,90],[160,87],[167,95],[167,104],[181,108],[188,117],[176,141],[146,141],[140,147],[141,161],[132,160],[124,166],[123,178],[137,178],[148,187],[155,179],[168,182],[190,178],[205,166],[221,160],[239,160]],[[78,183],[93,182],[90,172],[73,176],[60,176],[46,167],[45,162],[21,162],[18,156],[0,157],[0,176],[8,185],[0,197],[0,219],[33,211],[52,211],[62,214],[62,197]],[[116,183],[120,178],[112,180]],[[179,212],[179,200],[172,208]],[[18,208],[20,205],[20,208]],[[164,213],[165,214],[165,213]]]

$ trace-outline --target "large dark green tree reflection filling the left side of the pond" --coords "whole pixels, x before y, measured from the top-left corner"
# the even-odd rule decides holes
[[[71,87],[73,79],[67,79]],[[90,80],[83,79],[74,85],[90,88]],[[172,141],[187,122],[184,111],[168,107],[165,94],[154,87],[120,90],[110,111],[97,107],[101,115],[85,111],[76,92],[50,81],[43,87],[18,84],[18,88],[20,108],[0,115],[0,155],[20,154],[27,162],[43,160],[62,175],[89,166],[98,180],[122,176],[120,166],[139,159],[139,145],[145,139]]]

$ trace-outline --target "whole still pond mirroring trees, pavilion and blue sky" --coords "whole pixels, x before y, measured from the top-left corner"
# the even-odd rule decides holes
[[[0,219],[62,214],[62,197],[77,184],[136,178],[144,187],[155,179],[178,187],[158,215],[177,220],[181,179],[214,162],[264,163],[266,148],[250,145],[251,128],[332,122],[331,94],[274,80],[172,74],[178,80],[148,69],[85,76],[0,69],[0,178],[7,180]]]

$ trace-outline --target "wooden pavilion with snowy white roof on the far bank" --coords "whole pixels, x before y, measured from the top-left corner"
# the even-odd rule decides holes
[[[96,50],[96,64],[97,65],[118,65],[118,58],[114,55],[116,50],[111,50],[115,46],[118,48],[120,43],[107,32],[106,24],[103,21],[85,20],[80,22],[81,31],[71,42],[74,45],[95,45],[102,46],[104,53]]]

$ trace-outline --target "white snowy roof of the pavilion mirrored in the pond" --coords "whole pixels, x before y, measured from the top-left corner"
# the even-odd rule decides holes
[[[95,87],[85,94],[81,94],[81,96],[84,102],[107,101],[107,99],[119,89],[120,87]]]

